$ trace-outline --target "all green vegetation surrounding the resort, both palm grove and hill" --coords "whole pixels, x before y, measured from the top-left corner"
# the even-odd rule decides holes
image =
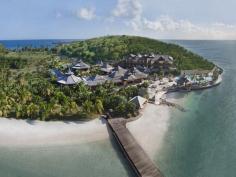
[[[120,88],[106,83],[95,89],[83,83],[59,86],[49,70],[65,69],[71,63],[68,57],[95,63],[98,59],[117,61],[130,53],[151,52],[175,57],[179,69],[213,66],[182,47],[142,37],[108,36],[52,49],[7,50],[0,45],[0,117],[75,120],[97,117],[110,110],[115,116],[133,116],[137,108],[129,100],[140,93],[145,96],[147,84]],[[91,68],[92,74],[97,72]]]

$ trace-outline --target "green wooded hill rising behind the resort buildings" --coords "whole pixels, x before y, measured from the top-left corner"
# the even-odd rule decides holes
[[[170,55],[181,69],[212,69],[214,64],[183,47],[154,39],[135,36],[106,36],[62,45],[59,53],[69,57],[81,57],[86,62],[97,60],[118,61],[133,54],[159,53]]]

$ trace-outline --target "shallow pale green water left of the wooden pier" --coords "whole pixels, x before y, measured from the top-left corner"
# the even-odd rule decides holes
[[[110,141],[0,148],[0,177],[133,177]]]

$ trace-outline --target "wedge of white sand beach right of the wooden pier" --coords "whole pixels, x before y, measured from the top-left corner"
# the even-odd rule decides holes
[[[141,110],[141,117],[127,124],[142,148],[150,157],[155,156],[162,147],[163,138],[169,127],[170,108],[148,104]]]

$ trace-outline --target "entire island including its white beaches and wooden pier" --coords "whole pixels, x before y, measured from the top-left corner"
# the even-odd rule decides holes
[[[185,111],[165,95],[215,87],[223,70],[178,45],[122,35],[51,48],[0,45],[0,72],[2,145],[93,142],[112,135],[137,176],[163,177],[150,157],[161,147],[166,107]],[[158,138],[142,138],[150,133]]]

